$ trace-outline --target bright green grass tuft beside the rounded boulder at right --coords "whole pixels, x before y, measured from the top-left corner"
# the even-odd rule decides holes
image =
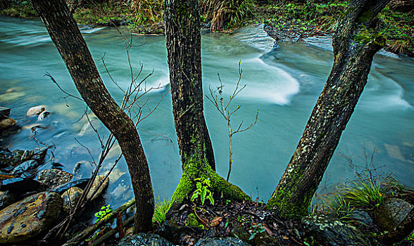
[[[344,189],[344,199],[352,206],[374,209],[382,202],[379,187],[370,181],[354,181]]]

